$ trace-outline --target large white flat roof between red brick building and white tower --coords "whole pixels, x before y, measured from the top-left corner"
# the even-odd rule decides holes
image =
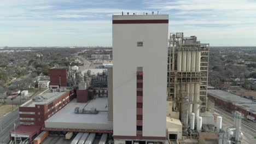
[[[45,128],[113,130],[113,122],[108,121],[107,105],[107,98],[92,99],[88,103],[77,103],[77,99],[73,99],[45,121]],[[74,113],[77,106],[80,109],[85,107],[85,110],[96,107],[99,112],[97,114]]]

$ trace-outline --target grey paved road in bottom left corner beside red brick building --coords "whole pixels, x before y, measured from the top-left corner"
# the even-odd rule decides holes
[[[14,129],[14,121],[19,125],[19,109],[16,109],[0,118],[0,144],[10,141],[9,132]]]

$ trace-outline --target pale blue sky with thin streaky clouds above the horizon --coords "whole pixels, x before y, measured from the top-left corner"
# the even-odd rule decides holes
[[[170,32],[256,46],[255,0],[0,0],[0,46],[112,46],[112,15],[169,15]]]

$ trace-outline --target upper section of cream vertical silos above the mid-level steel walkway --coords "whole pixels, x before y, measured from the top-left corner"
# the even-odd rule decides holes
[[[177,71],[200,71],[201,51],[178,51]]]

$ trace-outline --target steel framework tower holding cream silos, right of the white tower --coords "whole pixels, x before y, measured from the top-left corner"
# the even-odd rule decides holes
[[[189,113],[198,118],[206,111],[210,45],[196,40],[183,33],[171,33],[169,40],[167,101],[172,104],[170,116],[181,119],[183,131],[189,127]]]

